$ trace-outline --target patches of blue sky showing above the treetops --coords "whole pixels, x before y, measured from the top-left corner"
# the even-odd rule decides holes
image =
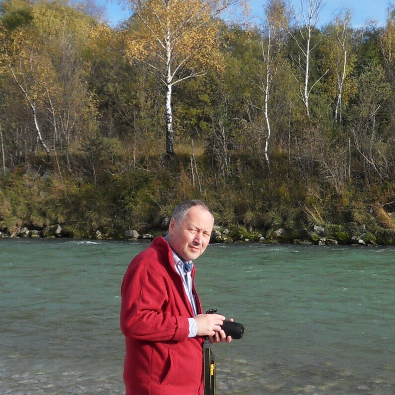
[[[116,0],[96,0],[97,3],[105,8],[105,17],[111,26],[116,26],[120,21],[125,20],[130,15]],[[319,25],[323,26],[333,20],[334,16],[342,8],[348,8],[353,15],[352,25],[362,26],[365,22],[376,20],[379,26],[385,24],[387,7],[390,3],[395,4],[395,0],[324,0],[324,7],[320,13]],[[264,0],[250,0],[251,16],[259,24],[263,18]],[[292,0],[297,7],[300,0]]]

